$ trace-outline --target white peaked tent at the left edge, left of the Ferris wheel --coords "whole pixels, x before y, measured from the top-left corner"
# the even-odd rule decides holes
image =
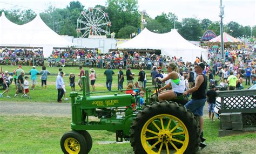
[[[10,22],[2,12],[0,36],[0,46],[43,47],[45,57],[51,54],[53,47],[73,45],[51,30],[39,15],[29,23],[17,25]]]

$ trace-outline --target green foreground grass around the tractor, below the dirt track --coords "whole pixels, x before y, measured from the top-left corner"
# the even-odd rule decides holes
[[[60,138],[70,131],[69,117],[0,115],[0,153],[62,153]],[[220,121],[205,119],[207,147],[199,153],[255,153],[256,134],[218,137]],[[90,153],[133,153],[129,143],[99,144],[115,141],[107,131],[90,131],[93,146]]]

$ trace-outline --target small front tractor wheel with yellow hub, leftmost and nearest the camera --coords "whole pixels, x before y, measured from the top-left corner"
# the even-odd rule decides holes
[[[87,153],[87,145],[82,134],[76,131],[66,132],[60,139],[60,147],[64,153]]]

